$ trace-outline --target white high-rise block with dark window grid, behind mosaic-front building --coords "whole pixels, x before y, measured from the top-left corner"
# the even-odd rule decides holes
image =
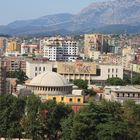
[[[44,42],[44,57],[51,61],[74,61],[78,58],[77,42],[70,38],[51,37]]]

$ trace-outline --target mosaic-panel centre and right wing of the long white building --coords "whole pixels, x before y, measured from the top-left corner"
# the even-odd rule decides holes
[[[68,81],[87,80],[89,84],[101,84],[111,77],[123,79],[121,65],[96,64],[93,62],[58,62],[57,72]]]

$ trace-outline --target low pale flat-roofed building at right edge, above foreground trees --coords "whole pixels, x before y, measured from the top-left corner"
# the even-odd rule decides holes
[[[109,86],[105,87],[103,98],[123,103],[125,100],[134,100],[140,103],[140,86]]]

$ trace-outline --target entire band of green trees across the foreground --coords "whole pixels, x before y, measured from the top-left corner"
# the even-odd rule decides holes
[[[0,137],[33,140],[140,140],[140,105],[89,102],[79,112],[31,95],[0,96]]]

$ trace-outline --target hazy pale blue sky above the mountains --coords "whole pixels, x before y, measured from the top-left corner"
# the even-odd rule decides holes
[[[92,2],[107,0],[0,0],[0,25],[55,13],[78,13]]]

